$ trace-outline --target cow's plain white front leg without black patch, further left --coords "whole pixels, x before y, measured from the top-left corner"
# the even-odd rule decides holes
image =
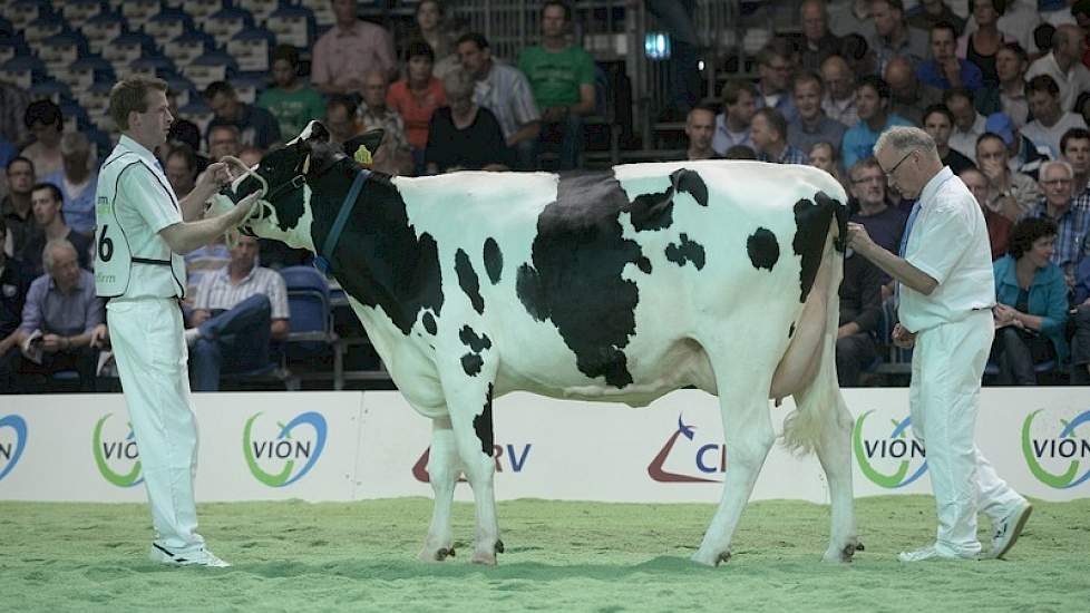
[[[424,562],[442,562],[455,555],[454,533],[450,532],[450,506],[454,489],[461,474],[458,448],[449,417],[431,420],[431,450],[428,454],[428,477],[435,492],[435,509],[428,537],[420,551]]]

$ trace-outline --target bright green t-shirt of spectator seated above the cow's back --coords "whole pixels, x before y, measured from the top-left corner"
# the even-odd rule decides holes
[[[526,75],[542,110],[578,104],[580,86],[594,85],[594,58],[582,47],[562,51],[527,47],[518,55],[518,69]]]

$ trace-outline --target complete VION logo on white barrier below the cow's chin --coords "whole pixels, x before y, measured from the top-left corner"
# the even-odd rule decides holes
[[[325,448],[325,418],[309,411],[288,425],[276,422],[275,438],[255,436],[254,413],[242,431],[242,449],[254,478],[269,487],[286,487],[303,478],[318,463]],[[266,471],[265,468],[274,467]]]

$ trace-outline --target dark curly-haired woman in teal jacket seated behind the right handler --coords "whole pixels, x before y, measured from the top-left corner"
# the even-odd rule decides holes
[[[1055,224],[1028,217],[1011,231],[1010,254],[995,261],[995,340],[990,360],[1001,386],[1034,386],[1033,364],[1065,362],[1068,285],[1051,262]]]

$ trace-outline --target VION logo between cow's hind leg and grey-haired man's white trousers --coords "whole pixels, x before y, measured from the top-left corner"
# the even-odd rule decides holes
[[[902,421],[891,419],[893,431],[886,436],[874,436],[872,430],[878,427],[865,425],[873,412],[860,415],[851,434],[859,469],[876,485],[889,489],[904,487],[918,479],[927,470],[927,459],[924,446],[916,439],[908,438],[911,418],[906,417]]]

